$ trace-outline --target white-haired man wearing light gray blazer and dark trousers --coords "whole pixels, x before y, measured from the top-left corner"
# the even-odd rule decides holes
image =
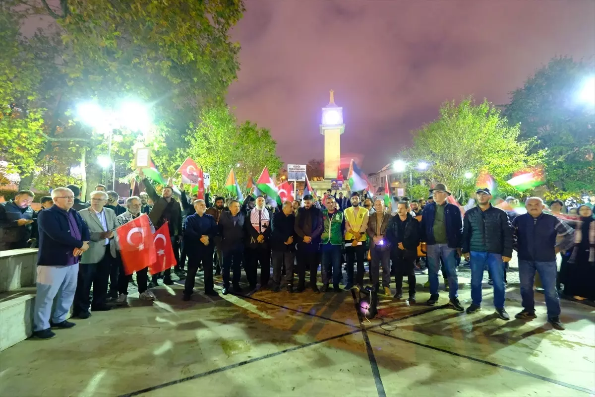
[[[115,258],[114,230],[115,212],[104,207],[108,194],[95,190],[90,195],[91,206],[79,211],[89,227],[91,241],[89,249],[80,259],[79,284],[74,296],[73,317],[89,318],[89,305],[92,311],[107,311],[109,270]],[[93,302],[89,294],[93,285]]]

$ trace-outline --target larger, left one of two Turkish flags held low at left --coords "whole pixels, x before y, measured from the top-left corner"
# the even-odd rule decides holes
[[[132,274],[155,262],[155,248],[149,217],[146,214],[134,218],[115,230],[120,244],[124,274]]]

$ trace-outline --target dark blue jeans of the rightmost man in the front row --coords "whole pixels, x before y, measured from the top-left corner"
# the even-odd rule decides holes
[[[560,315],[560,299],[558,298],[558,290],[556,289],[556,276],[558,275],[556,261],[535,262],[519,260],[522,307],[527,311],[535,311],[533,282],[536,270],[539,273],[541,285],[546,295],[547,318],[558,317]]]

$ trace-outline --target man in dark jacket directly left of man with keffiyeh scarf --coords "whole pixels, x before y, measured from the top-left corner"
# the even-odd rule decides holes
[[[223,295],[230,293],[229,271],[233,270],[233,293],[242,293],[240,287],[240,264],[244,255],[244,223],[246,215],[240,211],[240,202],[231,200],[229,211],[221,213],[219,218],[219,234],[221,235],[221,251],[223,254]],[[248,274],[246,274],[248,276]]]

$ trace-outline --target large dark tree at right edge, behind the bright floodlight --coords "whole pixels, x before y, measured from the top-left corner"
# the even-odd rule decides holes
[[[595,192],[595,108],[580,95],[594,70],[593,60],[553,58],[505,105],[509,122],[521,124],[521,138],[536,139],[533,151],[547,148],[550,196]]]

